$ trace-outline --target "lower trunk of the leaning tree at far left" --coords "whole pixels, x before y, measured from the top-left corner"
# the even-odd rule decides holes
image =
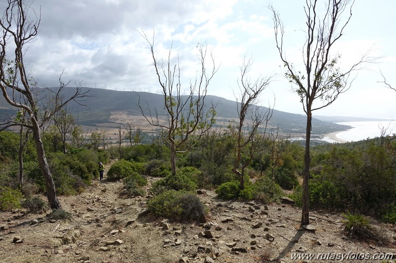
[[[39,161],[41,172],[44,175],[44,181],[46,183],[47,189],[47,199],[50,203],[51,209],[62,209],[60,203],[57,199],[57,193],[55,190],[55,183],[51,175],[50,167],[47,162],[47,157],[44,152],[43,141],[41,140],[40,136],[40,127],[34,118],[32,118],[32,125],[33,125],[33,139],[36,144],[37,150],[37,159]]]

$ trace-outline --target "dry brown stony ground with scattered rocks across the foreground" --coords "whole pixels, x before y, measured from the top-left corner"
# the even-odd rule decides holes
[[[105,175],[105,180],[94,180],[81,195],[59,197],[63,209],[72,213],[71,220],[51,220],[46,213],[23,210],[1,213],[0,262],[314,263],[340,260],[303,261],[291,256],[360,253],[367,259],[343,262],[361,263],[381,262],[372,258],[376,253],[396,254],[394,225],[376,223],[391,241],[385,246],[345,237],[341,214],[312,211],[315,231],[299,230],[301,211],[291,205],[274,203],[267,209],[261,204],[220,200],[211,190],[200,193],[208,208],[207,222],[171,222],[145,213],[150,196],[128,197],[122,182],[108,181]]]

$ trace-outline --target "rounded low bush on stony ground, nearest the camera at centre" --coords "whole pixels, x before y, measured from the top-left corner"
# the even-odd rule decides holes
[[[196,220],[206,214],[205,206],[196,194],[168,190],[147,202],[149,211],[176,221]]]

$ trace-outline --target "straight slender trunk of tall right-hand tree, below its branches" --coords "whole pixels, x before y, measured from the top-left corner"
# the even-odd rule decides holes
[[[309,166],[311,157],[309,155],[309,143],[311,141],[311,108],[307,107],[307,129],[305,138],[304,170],[303,170],[303,189],[302,189],[302,216],[301,225],[309,224]]]

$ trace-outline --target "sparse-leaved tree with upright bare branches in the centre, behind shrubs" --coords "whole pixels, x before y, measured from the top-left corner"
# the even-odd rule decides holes
[[[205,108],[205,98],[213,76],[217,73],[218,67],[212,53],[210,53],[210,68],[207,67],[208,48],[206,44],[198,44],[198,60],[200,69],[194,81],[188,84],[189,93],[182,95],[184,87],[181,84],[180,65],[177,57],[177,62],[173,66],[171,61],[172,49],[168,53],[166,61],[157,61],[154,54],[154,35],[153,39],[149,40],[147,36],[142,33],[143,38],[149,44],[151,56],[154,62],[155,74],[158,83],[161,87],[164,96],[164,107],[167,113],[167,121],[160,120],[157,110],[155,113],[147,107],[143,108],[138,101],[138,106],[142,112],[143,117],[147,122],[157,128],[165,131],[165,140],[170,148],[170,163],[171,173],[176,174],[176,153],[185,152],[195,145],[190,143],[188,148],[185,148],[187,140],[198,141],[215,123],[215,107]]]

